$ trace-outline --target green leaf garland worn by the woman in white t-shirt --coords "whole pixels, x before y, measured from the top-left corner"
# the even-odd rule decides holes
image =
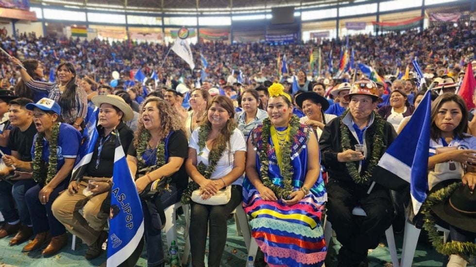
[[[206,146],[206,139],[208,137],[208,134],[210,133],[210,130],[211,128],[210,126],[208,126],[208,124],[200,126],[200,129],[198,130],[198,148],[200,151],[202,151]],[[215,148],[210,150],[210,154],[208,154],[208,166],[206,166],[202,161],[198,163],[197,171],[202,174],[205,179],[210,179],[212,174],[215,172],[215,170],[217,169],[217,163],[220,160],[221,156],[223,156],[225,150],[226,143],[218,143]],[[182,203],[189,204],[191,201],[190,197],[192,196],[192,192],[199,188],[200,186],[197,183],[195,183],[194,181],[190,181],[188,183],[187,188],[182,193]]]

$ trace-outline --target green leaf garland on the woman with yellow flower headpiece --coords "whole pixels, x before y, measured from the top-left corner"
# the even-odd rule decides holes
[[[283,147],[281,148],[281,162],[282,162],[282,168],[280,168],[281,175],[283,176],[283,187],[277,186],[272,183],[272,180],[268,176],[268,170],[270,168],[269,166],[269,158],[268,158],[268,146],[269,146],[269,140],[270,140],[270,135],[271,135],[271,121],[269,118],[266,118],[263,120],[263,128],[262,128],[262,134],[261,137],[263,139],[262,143],[262,149],[259,151],[259,160],[261,163],[261,168],[260,168],[260,178],[263,184],[267,187],[270,188],[273,193],[276,195],[277,198],[279,199],[284,199],[288,200],[289,195],[293,191],[293,187],[291,185],[292,182],[292,166],[291,166],[291,146],[294,141],[294,136],[296,136],[297,131],[299,130],[299,119],[295,115],[291,117],[289,120],[289,127],[291,127],[289,131],[289,140],[285,141]],[[276,145],[276,144],[274,144]],[[278,157],[278,155],[276,155]]]

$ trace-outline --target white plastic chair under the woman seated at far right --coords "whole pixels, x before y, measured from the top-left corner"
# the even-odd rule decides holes
[[[448,240],[450,230],[439,225],[436,225],[436,229],[440,232],[443,232],[443,242],[446,242],[446,240]],[[418,237],[420,236],[421,231],[421,229],[416,228],[415,225],[411,224],[408,220],[405,223],[401,267],[411,267],[411,264],[413,263],[413,257],[415,256]]]

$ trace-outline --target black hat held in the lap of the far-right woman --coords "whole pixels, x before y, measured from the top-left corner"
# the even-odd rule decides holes
[[[431,188],[429,194],[448,185],[444,182],[440,182]],[[431,210],[450,225],[476,233],[476,193],[472,192],[467,185],[459,185],[445,200],[432,205]]]

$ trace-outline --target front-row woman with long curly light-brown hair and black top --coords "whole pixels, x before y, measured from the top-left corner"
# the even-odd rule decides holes
[[[187,136],[177,113],[167,101],[158,97],[149,97],[142,103],[140,118],[134,141],[127,152],[127,164],[133,175],[156,165],[152,172],[136,179],[136,187],[140,194],[150,183],[167,179],[167,189],[156,196],[160,197],[163,208],[166,208],[179,202],[187,187],[188,176],[184,163],[187,158]],[[148,266],[164,266],[157,207],[142,201],[142,210]]]

